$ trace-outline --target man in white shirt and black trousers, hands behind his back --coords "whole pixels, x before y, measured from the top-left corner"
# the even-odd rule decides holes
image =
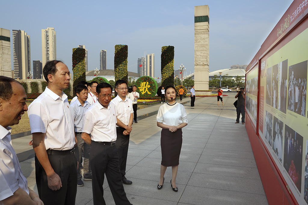
[[[117,139],[115,124],[116,109],[110,103],[112,87],[108,83],[97,85],[98,97],[83,117],[82,139],[91,145],[90,166],[92,171],[93,203],[106,204],[103,197],[104,174],[116,205],[131,204],[124,191],[119,169],[119,157],[115,140]],[[91,134],[91,136],[90,136]]]

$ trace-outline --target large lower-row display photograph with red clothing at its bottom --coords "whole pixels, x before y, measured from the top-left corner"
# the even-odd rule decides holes
[[[303,137],[285,125],[283,167],[288,172],[298,191],[302,184]]]

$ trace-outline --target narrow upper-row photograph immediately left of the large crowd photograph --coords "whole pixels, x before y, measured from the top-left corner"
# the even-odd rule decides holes
[[[288,60],[279,63],[278,110],[286,114],[287,109]]]

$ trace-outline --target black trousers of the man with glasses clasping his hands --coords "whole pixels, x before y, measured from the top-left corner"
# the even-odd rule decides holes
[[[129,135],[123,135],[124,128],[116,128],[116,141],[115,147],[118,149],[119,155],[119,167],[122,178],[125,178],[126,162],[127,162],[127,152],[128,152],[128,143]]]

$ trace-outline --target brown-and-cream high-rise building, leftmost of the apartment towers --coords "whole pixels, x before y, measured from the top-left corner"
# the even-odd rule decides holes
[[[30,36],[22,30],[12,30],[14,79],[27,79],[31,71]]]

